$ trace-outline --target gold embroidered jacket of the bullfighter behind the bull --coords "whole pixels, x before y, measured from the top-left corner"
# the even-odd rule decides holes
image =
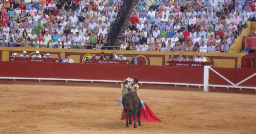
[[[125,85],[123,86],[124,83],[125,83]],[[121,89],[122,89],[122,96],[125,93],[127,93],[127,91],[129,89],[131,89],[131,91],[138,94],[139,85],[138,84],[133,85],[133,79],[127,78],[127,79],[124,79],[123,81],[121,81]]]

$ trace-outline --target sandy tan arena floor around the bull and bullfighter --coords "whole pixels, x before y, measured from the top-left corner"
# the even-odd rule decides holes
[[[120,89],[0,85],[0,133],[256,133],[256,96],[140,90],[160,123],[125,128]]]

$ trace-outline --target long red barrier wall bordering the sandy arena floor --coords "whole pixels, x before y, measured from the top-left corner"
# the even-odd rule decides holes
[[[66,78],[91,80],[123,80],[138,77],[146,82],[203,84],[203,68],[180,66],[147,66],[121,64],[83,64],[55,62],[0,62],[0,77]],[[234,84],[256,69],[214,68]],[[209,84],[231,85],[210,70]],[[256,87],[256,76],[239,86]]]

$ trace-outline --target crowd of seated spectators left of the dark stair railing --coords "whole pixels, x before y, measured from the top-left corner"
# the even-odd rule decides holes
[[[106,49],[122,0],[1,0],[0,46]]]

